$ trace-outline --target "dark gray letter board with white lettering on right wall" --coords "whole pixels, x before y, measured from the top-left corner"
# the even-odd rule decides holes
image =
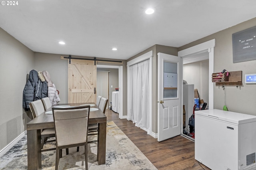
[[[256,59],[256,26],[232,34],[233,63]]]

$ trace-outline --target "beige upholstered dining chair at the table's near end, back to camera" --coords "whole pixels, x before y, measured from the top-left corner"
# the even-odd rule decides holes
[[[88,170],[88,121],[90,106],[52,107],[56,133],[56,162],[58,164],[62,149],[76,146],[85,148],[85,168]]]

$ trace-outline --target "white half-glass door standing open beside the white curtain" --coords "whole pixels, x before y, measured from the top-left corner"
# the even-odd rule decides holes
[[[181,58],[158,53],[158,142],[181,134]]]

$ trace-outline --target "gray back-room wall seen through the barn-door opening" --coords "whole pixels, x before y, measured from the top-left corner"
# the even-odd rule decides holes
[[[112,102],[112,91],[116,91],[116,88],[118,88],[118,69],[111,69],[111,68],[97,68],[97,71],[110,71],[108,74],[108,84],[109,84],[109,94],[108,94],[108,101],[109,106],[110,102]],[[111,88],[111,85],[113,86]]]

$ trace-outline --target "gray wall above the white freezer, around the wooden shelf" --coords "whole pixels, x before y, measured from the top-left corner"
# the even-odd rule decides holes
[[[178,48],[178,51],[216,39],[214,48],[214,73],[223,69],[242,71],[242,87],[226,87],[226,105],[229,111],[256,115],[256,84],[245,84],[244,74],[256,73],[256,60],[233,63],[232,34],[256,25],[256,18],[227,28],[210,36]],[[223,109],[224,91],[214,84],[214,109]]]

